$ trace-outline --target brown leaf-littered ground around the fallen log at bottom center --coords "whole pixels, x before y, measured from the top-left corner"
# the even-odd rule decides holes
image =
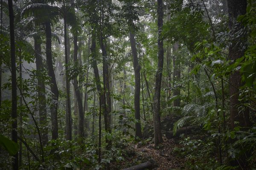
[[[129,146],[131,156],[127,157],[127,160],[116,164],[117,166],[112,166],[113,169],[118,167],[120,170],[145,161],[153,161],[155,164],[154,170],[185,170],[185,159],[175,156],[175,153],[173,153],[175,147],[181,146],[174,139],[166,139],[165,136],[163,136],[163,143],[158,149],[154,148],[153,142],[134,144]]]

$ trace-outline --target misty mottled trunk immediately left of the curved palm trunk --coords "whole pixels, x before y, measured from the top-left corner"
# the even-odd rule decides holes
[[[42,144],[46,145],[48,142],[48,128],[47,128],[47,109],[46,109],[46,97],[45,97],[45,84],[42,78],[42,71],[44,69],[43,59],[41,56],[41,38],[34,37],[35,48],[35,64],[37,70],[38,79],[38,110],[39,110],[39,123],[42,133]],[[42,128],[43,127],[43,128]]]

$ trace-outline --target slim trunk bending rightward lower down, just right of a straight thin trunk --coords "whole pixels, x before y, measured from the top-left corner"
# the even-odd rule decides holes
[[[76,33],[77,34],[77,33]],[[74,34],[74,62],[79,66],[79,61],[77,58],[78,46],[77,46],[77,35]],[[76,99],[78,103],[78,135],[84,137],[84,111],[83,111],[83,101],[81,92],[79,91],[77,77],[74,77],[74,91],[76,94]]]

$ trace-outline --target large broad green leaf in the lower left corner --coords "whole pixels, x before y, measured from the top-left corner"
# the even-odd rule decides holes
[[[18,144],[3,135],[0,135],[0,146],[12,156],[18,152]]]

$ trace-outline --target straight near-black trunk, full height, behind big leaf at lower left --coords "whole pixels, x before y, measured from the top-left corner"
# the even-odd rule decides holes
[[[9,19],[10,19],[10,44],[11,44],[11,70],[12,70],[12,141],[17,143],[17,82],[16,82],[16,57],[15,57],[15,38],[14,38],[14,14],[12,0],[8,0]],[[12,159],[13,170],[18,170],[18,153]]]

